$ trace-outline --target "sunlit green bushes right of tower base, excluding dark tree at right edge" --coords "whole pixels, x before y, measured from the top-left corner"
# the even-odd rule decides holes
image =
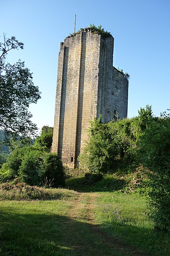
[[[89,139],[79,156],[80,166],[94,173],[107,173],[114,169],[119,158],[134,161],[137,142],[147,129],[152,116],[151,106],[138,111],[138,117],[101,123],[91,121]]]

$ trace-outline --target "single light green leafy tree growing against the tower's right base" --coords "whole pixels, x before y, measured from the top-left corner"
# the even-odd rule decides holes
[[[100,118],[94,119],[91,121],[87,145],[78,158],[80,166],[88,167],[91,172],[107,173],[111,170],[119,147],[108,124],[101,123]]]

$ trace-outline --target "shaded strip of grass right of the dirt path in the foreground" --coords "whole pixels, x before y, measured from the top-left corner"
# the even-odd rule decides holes
[[[103,225],[103,231],[112,237],[121,237],[122,241],[145,252],[144,255],[167,256],[170,255],[170,233],[159,231],[152,228],[137,227],[130,225],[117,225],[109,223]],[[131,255],[131,254],[130,254]],[[142,254],[136,254],[142,255]]]

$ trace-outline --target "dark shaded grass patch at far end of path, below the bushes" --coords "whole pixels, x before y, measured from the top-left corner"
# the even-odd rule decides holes
[[[85,177],[66,180],[66,188],[78,192],[111,192],[120,191],[126,187],[126,181],[118,178],[103,178],[101,181],[90,183]]]

